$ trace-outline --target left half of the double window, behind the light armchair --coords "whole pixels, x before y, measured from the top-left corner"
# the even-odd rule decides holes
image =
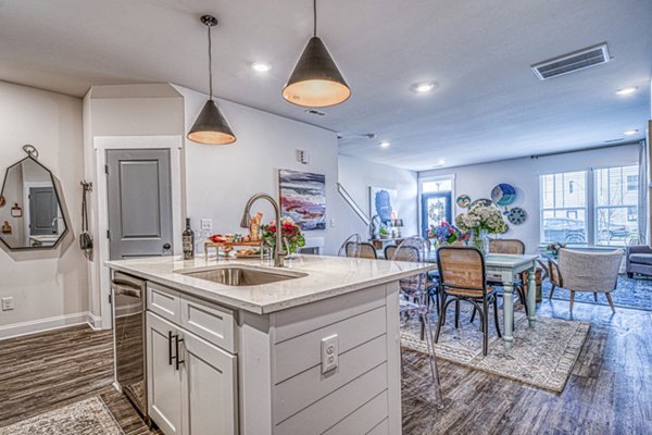
[[[541,243],[587,243],[587,172],[541,175]]]

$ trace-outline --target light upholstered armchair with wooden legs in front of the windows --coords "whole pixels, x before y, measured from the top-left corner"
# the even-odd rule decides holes
[[[623,260],[623,249],[610,252],[584,252],[569,249],[560,249],[556,262],[550,260],[550,281],[552,289],[562,287],[570,290],[570,311],[575,300],[575,291],[592,293],[598,298],[599,293],[606,296],[613,312],[614,301],[611,291],[616,289],[618,270]]]

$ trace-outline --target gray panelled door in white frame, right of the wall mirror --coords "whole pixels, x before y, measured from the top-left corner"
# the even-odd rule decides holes
[[[168,150],[106,151],[111,260],[172,256]]]

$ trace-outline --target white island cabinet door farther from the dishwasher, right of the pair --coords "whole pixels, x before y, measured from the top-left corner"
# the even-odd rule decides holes
[[[237,357],[190,333],[184,348],[184,434],[237,434]]]

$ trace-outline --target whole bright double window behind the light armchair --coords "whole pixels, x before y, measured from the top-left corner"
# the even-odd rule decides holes
[[[541,175],[541,243],[623,246],[638,237],[638,166]]]

